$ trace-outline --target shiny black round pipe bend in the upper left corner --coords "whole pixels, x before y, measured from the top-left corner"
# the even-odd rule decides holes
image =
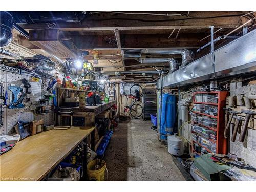
[[[4,47],[12,41],[12,15],[0,11],[0,18],[0,47]]]

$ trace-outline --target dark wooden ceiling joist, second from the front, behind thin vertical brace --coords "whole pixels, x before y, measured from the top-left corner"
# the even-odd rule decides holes
[[[205,34],[204,34],[205,35]],[[197,49],[206,41],[199,41],[203,34],[180,34],[168,39],[168,34],[120,35],[122,49],[190,48]],[[115,35],[70,36],[79,49],[117,49]]]

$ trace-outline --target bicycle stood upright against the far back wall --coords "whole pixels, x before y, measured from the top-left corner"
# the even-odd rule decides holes
[[[132,87],[138,86],[140,91],[138,89],[133,90]],[[134,118],[138,118],[143,114],[143,108],[140,104],[136,103],[137,101],[140,101],[140,97],[142,96],[142,88],[140,85],[134,84],[130,88],[130,95],[126,95],[126,106],[124,106],[124,112],[129,112],[130,115]],[[128,98],[133,99],[134,101],[128,106]]]

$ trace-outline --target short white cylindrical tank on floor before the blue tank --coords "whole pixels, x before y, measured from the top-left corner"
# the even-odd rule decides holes
[[[170,135],[168,138],[168,152],[172,155],[183,155],[183,141],[176,135]]]

